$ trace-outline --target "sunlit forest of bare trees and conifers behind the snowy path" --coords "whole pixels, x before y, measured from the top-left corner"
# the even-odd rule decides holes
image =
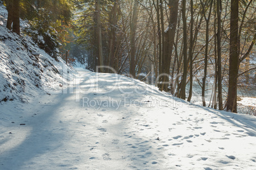
[[[238,88],[255,88],[254,0],[3,3],[6,27],[31,36],[55,60],[75,58],[94,72],[127,75],[187,101],[199,86],[203,106],[231,112]]]

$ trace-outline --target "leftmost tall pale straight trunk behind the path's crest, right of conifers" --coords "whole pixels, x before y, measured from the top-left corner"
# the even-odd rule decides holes
[[[96,24],[97,24],[97,47],[99,51],[99,56],[97,58],[97,66],[99,66],[99,72],[104,72],[102,66],[103,63],[103,44],[102,44],[102,35],[101,35],[101,11],[99,8],[100,0],[96,0],[95,6],[96,6]]]

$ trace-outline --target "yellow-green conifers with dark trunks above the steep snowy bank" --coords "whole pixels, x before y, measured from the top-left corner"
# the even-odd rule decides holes
[[[71,15],[69,0],[8,0],[4,1],[8,10],[6,27],[20,35],[20,18],[27,20],[24,32],[53,58],[59,55],[62,31]],[[59,32],[57,31],[59,30]]]

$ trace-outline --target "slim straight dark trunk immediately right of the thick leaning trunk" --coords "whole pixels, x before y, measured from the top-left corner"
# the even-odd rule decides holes
[[[183,76],[181,81],[181,98],[186,99],[186,81],[187,81],[187,17],[186,0],[182,0],[182,21],[183,21]]]

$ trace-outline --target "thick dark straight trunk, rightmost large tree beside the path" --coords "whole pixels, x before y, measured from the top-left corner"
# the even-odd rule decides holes
[[[238,88],[238,9],[239,0],[231,0],[231,36],[229,52],[229,92],[227,96],[227,110],[237,112]]]

